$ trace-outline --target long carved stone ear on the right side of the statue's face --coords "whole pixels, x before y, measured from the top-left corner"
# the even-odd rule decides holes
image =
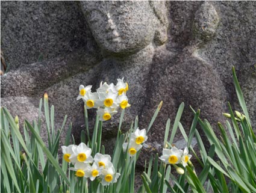
[[[165,1],[149,1],[154,14],[157,17],[157,27],[155,30],[154,42],[157,46],[163,45],[167,41],[167,28],[169,25]]]

